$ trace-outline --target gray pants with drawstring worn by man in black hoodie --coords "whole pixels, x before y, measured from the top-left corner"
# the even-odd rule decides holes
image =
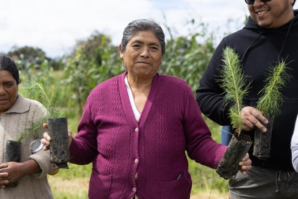
[[[229,180],[230,199],[298,199],[298,173],[253,166]]]

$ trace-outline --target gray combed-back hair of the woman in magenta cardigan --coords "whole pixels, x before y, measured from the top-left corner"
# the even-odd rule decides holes
[[[123,31],[121,50],[124,51],[127,43],[140,31],[152,31],[161,44],[161,55],[165,53],[165,40],[162,28],[148,19],[136,19],[130,22]]]

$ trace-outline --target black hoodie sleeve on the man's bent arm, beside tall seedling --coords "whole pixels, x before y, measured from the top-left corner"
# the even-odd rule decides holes
[[[223,39],[204,71],[196,91],[196,100],[202,113],[222,126],[230,125],[227,113],[229,107],[232,106],[232,103],[229,103],[228,106],[223,106],[224,90],[218,82],[220,69],[223,65],[223,51],[226,46],[227,44]]]

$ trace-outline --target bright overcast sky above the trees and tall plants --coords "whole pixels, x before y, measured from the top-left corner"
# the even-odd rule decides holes
[[[244,0],[0,0],[0,5],[0,53],[31,46],[51,58],[69,53],[95,30],[119,45],[126,25],[138,18],[154,20],[167,37],[163,24],[180,36],[195,19],[222,35],[228,19],[238,24],[229,27],[235,31],[249,14]]]

